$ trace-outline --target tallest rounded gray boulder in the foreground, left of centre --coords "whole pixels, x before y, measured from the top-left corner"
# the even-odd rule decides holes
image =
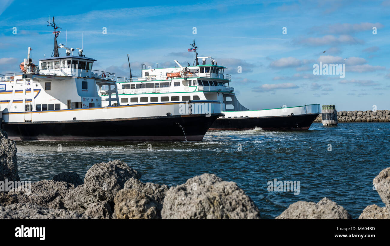
[[[141,173],[120,160],[93,165],[85,174],[84,187],[96,197],[96,201],[112,202],[115,194],[122,190],[131,177],[139,179]]]

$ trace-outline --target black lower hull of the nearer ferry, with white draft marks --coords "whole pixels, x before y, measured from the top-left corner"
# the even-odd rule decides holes
[[[223,114],[159,116],[93,121],[3,123],[12,140],[47,141],[202,141]]]

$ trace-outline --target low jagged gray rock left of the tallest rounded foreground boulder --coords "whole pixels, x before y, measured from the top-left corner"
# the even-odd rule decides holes
[[[18,202],[31,203],[41,207],[53,209],[63,209],[62,200],[69,192],[74,189],[74,185],[66,182],[57,182],[53,180],[41,180],[31,184],[31,191],[13,190],[9,195],[16,195]]]

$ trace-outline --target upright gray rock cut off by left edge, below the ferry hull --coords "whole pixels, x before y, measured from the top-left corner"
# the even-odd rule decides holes
[[[8,139],[7,132],[0,129],[0,181],[20,181],[16,144]]]

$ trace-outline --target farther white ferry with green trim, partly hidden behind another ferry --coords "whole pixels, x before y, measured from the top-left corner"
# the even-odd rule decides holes
[[[191,100],[214,100],[222,102],[222,112],[211,125],[211,130],[241,130],[260,127],[263,130],[308,130],[321,113],[319,104],[277,109],[249,110],[241,105],[230,86],[231,77],[226,67],[217,65],[211,56],[196,58],[193,66],[146,69],[141,66],[141,76],[118,77],[118,95],[121,105],[137,105],[147,102],[174,103]],[[202,59],[199,64],[198,59]],[[210,59],[210,64],[206,64]],[[110,93],[103,87],[99,91],[103,98]]]

